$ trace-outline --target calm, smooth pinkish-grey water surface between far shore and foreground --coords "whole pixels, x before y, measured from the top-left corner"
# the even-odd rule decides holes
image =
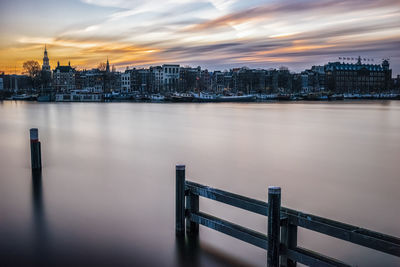
[[[400,236],[400,102],[0,102],[0,265],[265,266],[265,251],[210,229],[175,238],[177,163],[195,182],[260,200],[279,185],[284,206]],[[266,232],[266,217],[209,200],[200,209]],[[307,230],[299,244],[400,265]]]

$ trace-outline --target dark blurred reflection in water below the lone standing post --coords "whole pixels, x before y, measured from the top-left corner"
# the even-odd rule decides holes
[[[48,233],[43,201],[42,172],[32,171],[32,222],[34,263],[41,266],[48,254]]]

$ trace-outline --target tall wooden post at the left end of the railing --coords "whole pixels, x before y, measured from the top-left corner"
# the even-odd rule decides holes
[[[175,231],[185,233],[185,165],[176,165]]]

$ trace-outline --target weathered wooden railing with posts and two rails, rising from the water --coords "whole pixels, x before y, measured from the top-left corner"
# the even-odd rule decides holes
[[[268,216],[268,236],[200,212],[199,197]],[[186,199],[186,204],[185,204]],[[268,203],[185,180],[185,165],[176,166],[176,233],[197,234],[199,224],[267,250],[268,266],[350,266],[297,246],[303,227],[400,257],[400,238],[281,207],[281,189],[268,188]]]

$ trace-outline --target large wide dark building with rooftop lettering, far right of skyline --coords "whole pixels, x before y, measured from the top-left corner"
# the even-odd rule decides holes
[[[390,89],[392,70],[388,60],[382,64],[333,62],[325,65],[328,90],[335,93],[381,93]]]

